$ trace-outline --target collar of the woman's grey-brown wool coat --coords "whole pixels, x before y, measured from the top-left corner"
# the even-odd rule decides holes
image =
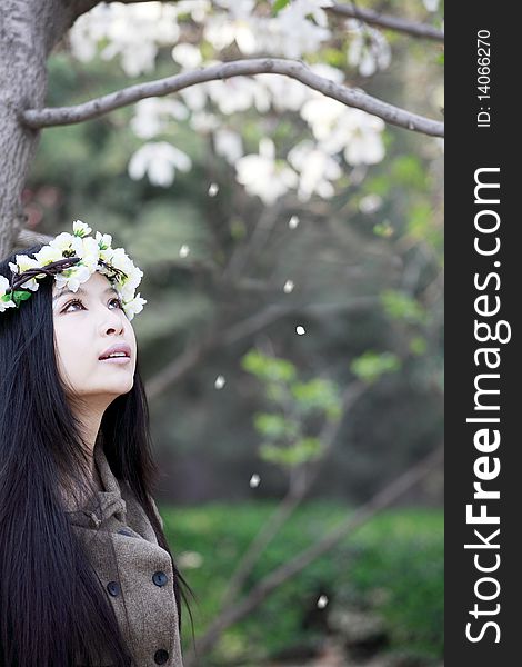
[[[100,474],[103,490],[97,491],[93,501],[86,504],[82,509],[68,511],[70,522],[84,528],[99,528],[112,516],[116,516],[119,521],[126,524],[127,505],[121,497],[118,479],[107,460],[101,439],[97,439],[94,446],[94,464]]]

